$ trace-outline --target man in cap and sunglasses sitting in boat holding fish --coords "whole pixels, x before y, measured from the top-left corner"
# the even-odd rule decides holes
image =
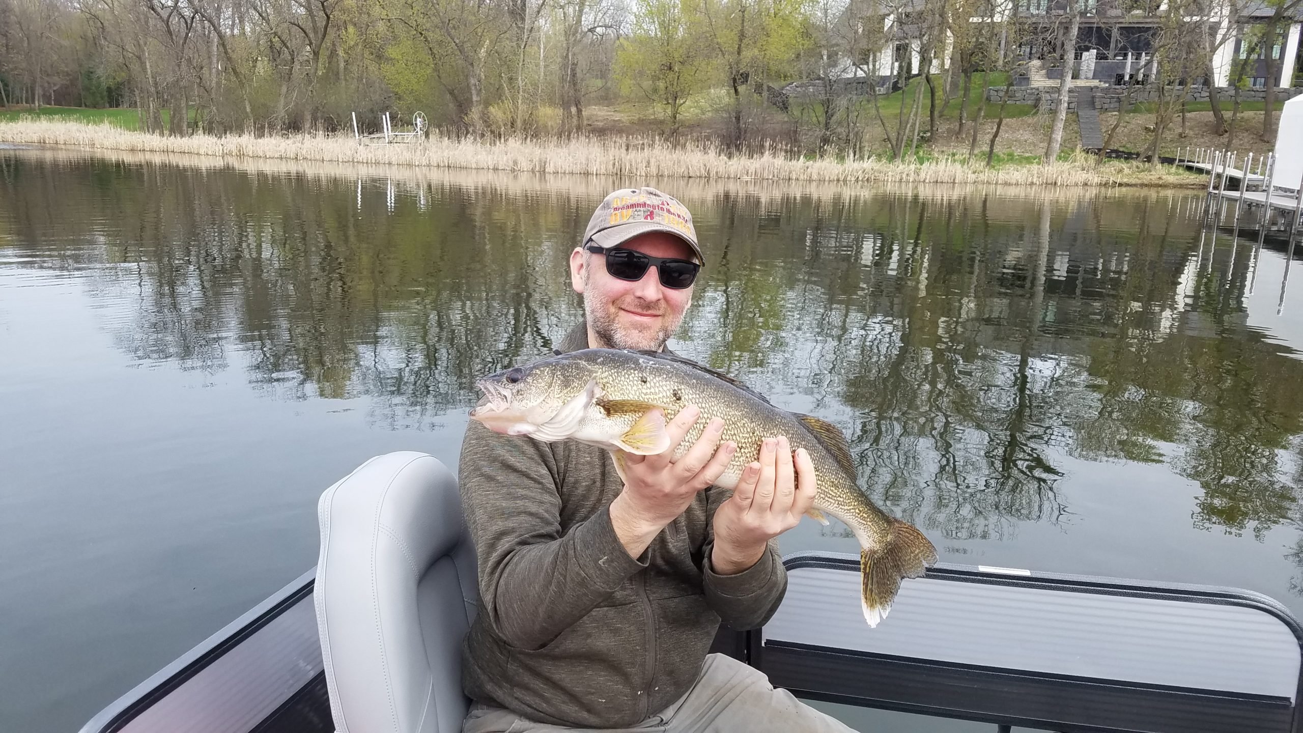
[[[571,253],[586,318],[560,351],[663,350],[702,262],[676,200],[650,188],[607,196]],[[762,673],[708,656],[721,620],[753,629],[782,601],[771,540],[809,509],[814,470],[786,438],[766,440],[730,497],[711,486],[737,450],[719,445],[718,420],[670,459],[698,417],[685,407],[670,450],[628,456],[627,483],[602,449],[470,423],[460,484],[481,609],[463,650],[476,702],[464,733],[850,730]]]

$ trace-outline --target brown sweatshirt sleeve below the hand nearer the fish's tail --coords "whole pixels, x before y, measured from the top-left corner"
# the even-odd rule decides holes
[[[718,486],[706,490],[709,492],[706,545],[701,560],[706,603],[730,627],[737,631],[758,629],[774,616],[787,592],[787,569],[783,567],[783,558],[778,554],[778,543],[770,541],[769,549],[760,556],[756,565],[741,573],[734,575],[715,573],[710,566],[710,554],[715,546],[715,509],[732,496],[732,492]]]

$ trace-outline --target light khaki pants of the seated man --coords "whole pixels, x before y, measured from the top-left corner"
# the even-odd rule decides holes
[[[534,723],[508,710],[476,703],[461,733],[556,733],[581,730]],[[586,729],[585,729],[586,730]],[[827,715],[801,703],[787,690],[775,690],[758,669],[724,656],[709,655],[701,676],[663,711],[633,728],[606,733],[853,733]]]

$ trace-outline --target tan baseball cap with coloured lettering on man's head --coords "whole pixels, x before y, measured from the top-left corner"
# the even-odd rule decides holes
[[[584,230],[584,241],[603,248],[619,247],[646,232],[671,233],[688,243],[697,260],[705,262],[697,244],[697,230],[692,226],[692,214],[672,196],[654,188],[622,188],[612,190],[593,211],[593,218]]]

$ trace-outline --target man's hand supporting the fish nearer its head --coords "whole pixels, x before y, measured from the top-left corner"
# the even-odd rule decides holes
[[[736,453],[737,443],[732,441],[719,445],[724,423],[717,417],[706,425],[683,458],[671,460],[675,449],[700,417],[701,411],[694,404],[680,410],[666,425],[670,447],[665,453],[620,454],[624,463],[624,490],[611,502],[611,524],[629,557],[642,554],[657,533],[683,514],[701,489],[724,472]],[[715,450],[717,446],[719,450]]]

